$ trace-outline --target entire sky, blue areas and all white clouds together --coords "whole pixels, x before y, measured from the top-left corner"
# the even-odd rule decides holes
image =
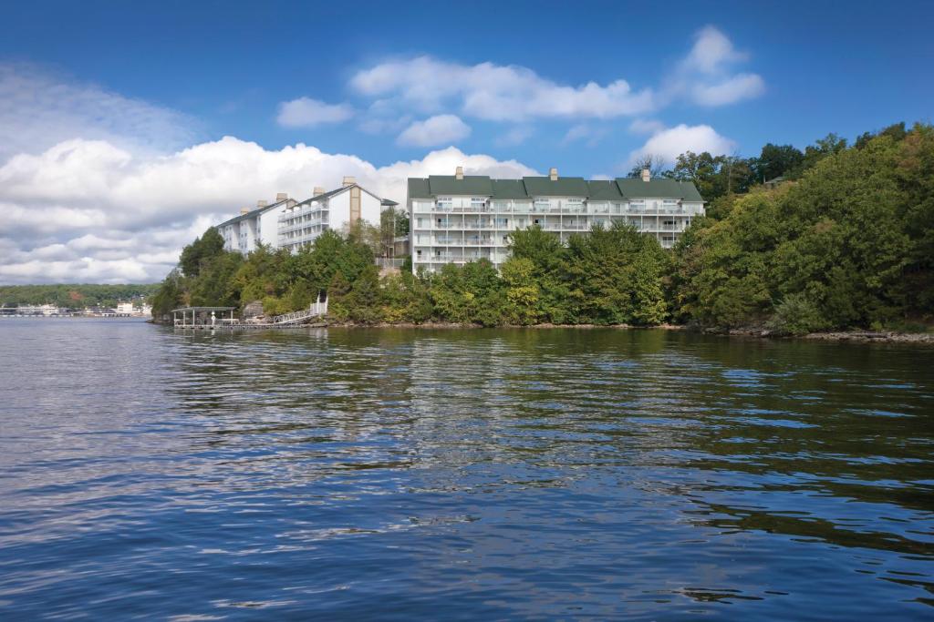
[[[616,175],[930,122],[932,23],[927,2],[4,3],[0,282],[151,280],[241,202],[341,173],[404,200],[459,162]]]

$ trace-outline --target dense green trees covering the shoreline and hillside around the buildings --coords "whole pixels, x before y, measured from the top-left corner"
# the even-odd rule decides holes
[[[214,229],[187,246],[153,297],[267,314],[326,293],[333,320],[361,324],[767,327],[774,334],[924,330],[934,314],[934,127],[903,123],[850,144],[834,134],[756,158],[686,153],[656,174],[708,201],[673,249],[615,224],[562,245],[531,228],[496,270],[481,260],[380,276],[379,232],[333,231],[297,254],[223,250]]]

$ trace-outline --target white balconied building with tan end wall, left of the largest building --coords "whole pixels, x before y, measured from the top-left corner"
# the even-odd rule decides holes
[[[330,192],[316,187],[311,199],[279,211],[276,246],[295,251],[315,242],[329,228],[346,231],[360,220],[379,227],[383,204],[384,200],[359,186],[353,177],[345,177],[343,185]]]

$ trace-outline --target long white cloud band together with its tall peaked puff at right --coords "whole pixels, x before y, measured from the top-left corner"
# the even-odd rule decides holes
[[[733,104],[757,97],[765,81],[736,67],[749,54],[733,46],[714,26],[702,28],[692,47],[656,87],[633,89],[617,78],[601,84],[561,84],[528,67],[493,62],[463,64],[432,56],[379,62],[363,69],[350,86],[375,99],[379,122],[388,111],[422,114],[457,113],[488,121],[524,123],[536,119],[569,119],[578,123],[657,112],[666,105],[688,102],[704,106]]]

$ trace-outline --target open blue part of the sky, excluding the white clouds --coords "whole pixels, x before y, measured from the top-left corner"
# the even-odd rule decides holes
[[[689,51],[706,25],[748,54],[739,70],[764,92],[736,104],[674,102],[644,115],[666,125],[707,124],[752,154],[765,142],[803,146],[828,131],[852,136],[898,120],[931,117],[932,3],[7,3],[0,55],[41,62],[75,79],[195,117],[201,136],[225,134],[268,148],[296,142],[375,163],[420,157],[357,123],[284,128],[276,106],[310,97],[370,104],[349,87],[358,71],[421,55],[474,65],[527,67],[562,85],[627,80],[634,89]],[[403,5],[403,6],[401,6]],[[927,76],[927,79],[925,79]],[[457,113],[456,110],[454,110]],[[503,145],[508,123],[463,117],[466,151],[517,158],[538,169],[613,173],[644,136],[631,116],[544,118]],[[591,145],[564,141],[587,123]]]

